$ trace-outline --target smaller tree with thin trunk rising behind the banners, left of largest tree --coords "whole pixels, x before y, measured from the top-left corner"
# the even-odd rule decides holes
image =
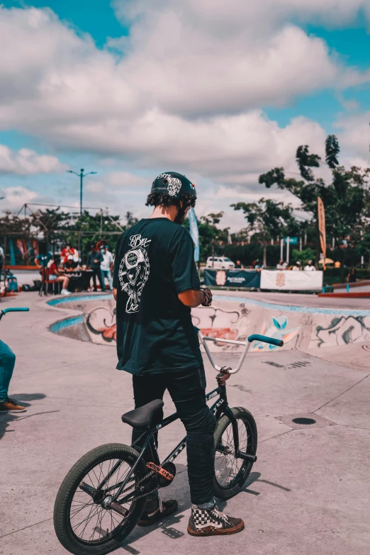
[[[273,237],[292,234],[298,224],[293,218],[290,204],[276,203],[269,198],[260,198],[257,203],[238,202],[230,205],[242,210],[248,222],[247,230],[259,234],[264,247],[264,267],[267,266],[267,241]],[[290,231],[289,231],[290,230]]]

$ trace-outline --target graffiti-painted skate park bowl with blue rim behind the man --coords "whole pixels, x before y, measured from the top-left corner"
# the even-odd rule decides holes
[[[247,340],[254,333],[284,340],[283,349],[325,349],[325,347],[366,343],[370,340],[370,309],[312,306],[299,296],[299,303],[284,304],[252,294],[215,291],[211,307],[194,308],[193,323],[203,335]],[[307,296],[312,298],[312,296]],[[286,301],[285,301],[286,298]],[[294,298],[294,302],[295,298]],[[312,303],[311,303],[312,304]],[[340,304],[340,302],[338,302]],[[79,294],[57,297],[47,305],[63,308],[71,315],[57,320],[50,331],[74,340],[116,347],[116,303],[109,294]],[[361,306],[361,304],[359,304]],[[240,352],[239,345],[212,342],[213,352]],[[274,345],[254,342],[252,352],[269,352]],[[279,348],[280,349],[280,348]]]

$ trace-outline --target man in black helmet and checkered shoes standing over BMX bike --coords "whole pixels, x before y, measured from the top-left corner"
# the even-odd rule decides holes
[[[181,174],[160,174],[152,184],[144,218],[116,245],[113,296],[117,301],[117,368],[133,374],[135,408],[162,399],[168,389],[186,428],[191,493],[191,535],[232,534],[241,519],[226,517],[213,500],[215,417],[206,405],[206,376],[191,307],[211,304],[201,289],[194,245],[181,226],[195,206],[194,185]],[[142,432],[133,430],[140,445]],[[150,460],[150,454],[147,457]],[[177,501],[147,500],[140,525],[149,525],[177,508]],[[201,518],[198,516],[201,514]]]

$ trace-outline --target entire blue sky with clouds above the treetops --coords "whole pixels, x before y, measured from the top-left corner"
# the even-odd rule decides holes
[[[2,0],[0,210],[150,213],[157,174],[196,184],[199,216],[297,172],[299,145],[369,164],[370,0]],[[329,177],[323,163],[316,172]]]

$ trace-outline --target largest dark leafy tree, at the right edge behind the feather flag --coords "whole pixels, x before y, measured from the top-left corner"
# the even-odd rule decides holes
[[[310,167],[318,167],[320,157],[310,155],[308,146],[298,147],[296,160],[303,180],[286,178],[284,168],[276,167],[259,176],[259,183],[271,188],[287,189],[301,201],[301,209],[312,215],[311,223],[317,230],[317,202],[322,198],[325,206],[327,235],[336,239],[346,237],[355,230],[363,232],[370,222],[369,181],[370,168],[338,165],[340,147],[335,135],[329,135],[325,142],[325,160],[332,171],[332,181],[325,184],[323,179],[315,179]]]

